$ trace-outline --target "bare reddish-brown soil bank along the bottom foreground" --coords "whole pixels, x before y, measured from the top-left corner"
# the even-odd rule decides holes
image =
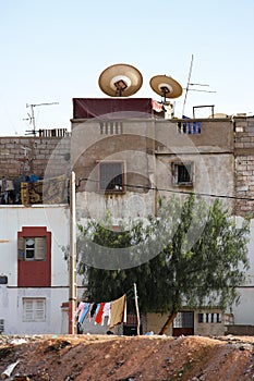
[[[0,335],[19,381],[254,380],[253,336]]]

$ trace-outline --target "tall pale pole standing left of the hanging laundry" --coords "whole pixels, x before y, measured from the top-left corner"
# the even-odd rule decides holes
[[[70,263],[69,263],[69,334],[75,333],[76,309],[76,198],[75,173],[70,177]]]

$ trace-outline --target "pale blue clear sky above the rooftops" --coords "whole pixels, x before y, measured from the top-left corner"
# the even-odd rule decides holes
[[[32,109],[36,130],[70,130],[72,99],[106,98],[98,77],[118,63],[142,73],[133,98],[178,81],[178,118],[253,115],[253,0],[0,0],[0,136],[28,134]]]

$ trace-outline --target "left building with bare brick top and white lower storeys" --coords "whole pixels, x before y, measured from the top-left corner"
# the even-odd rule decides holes
[[[44,135],[44,134],[43,134]],[[3,137],[0,331],[66,333],[70,137]]]

